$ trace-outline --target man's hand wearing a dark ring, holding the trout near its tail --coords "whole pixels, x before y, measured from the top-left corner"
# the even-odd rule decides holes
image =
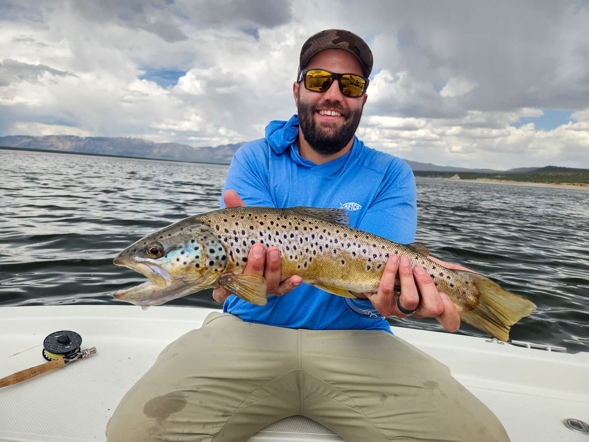
[[[429,257],[446,268],[467,270],[466,268]],[[395,295],[395,279],[399,275],[401,295]],[[418,292],[419,288],[419,292]],[[421,298],[419,296],[421,293]],[[398,303],[406,311],[413,312],[415,318],[436,318],[448,331],[456,331],[460,326],[458,309],[446,293],[438,292],[434,281],[422,267],[411,269],[406,256],[393,255],[385,266],[380,279],[378,292],[357,293],[358,298],[367,298],[378,312],[385,316],[405,318],[407,314],[398,308]]]

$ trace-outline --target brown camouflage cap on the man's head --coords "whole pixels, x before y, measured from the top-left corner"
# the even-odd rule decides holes
[[[372,51],[370,51],[366,42],[358,37],[358,35],[345,29],[326,29],[325,31],[311,35],[305,44],[303,44],[300,50],[297,80],[300,77],[300,72],[305,68],[313,55],[330,48],[343,49],[355,55],[362,65],[364,76],[366,78],[369,77],[370,71],[372,71]]]

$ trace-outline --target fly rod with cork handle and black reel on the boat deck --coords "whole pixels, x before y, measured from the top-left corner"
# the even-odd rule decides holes
[[[18,371],[0,379],[0,388],[18,384],[39,374],[61,368],[70,362],[96,354],[96,347],[80,350],[82,337],[76,332],[62,330],[48,335],[43,341],[42,356],[49,362]]]

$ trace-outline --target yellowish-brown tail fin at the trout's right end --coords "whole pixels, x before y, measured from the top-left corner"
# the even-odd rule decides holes
[[[509,339],[511,325],[536,309],[533,302],[502,289],[485,276],[459,270],[455,272],[479,289],[479,305],[471,311],[460,312],[460,318],[501,341]]]

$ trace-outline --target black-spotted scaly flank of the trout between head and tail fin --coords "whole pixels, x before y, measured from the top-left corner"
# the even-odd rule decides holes
[[[456,304],[472,309],[474,287],[450,269],[421,253],[362,230],[301,215],[296,209],[267,213],[263,207],[243,207],[227,215],[223,211],[196,216],[210,226],[224,243],[230,259],[227,271],[241,272],[254,243],[276,246],[281,256],[281,279],[298,275],[303,282],[343,286],[352,292],[376,292],[385,264],[392,254],[407,256],[412,266],[422,266],[440,291],[457,289]],[[455,276],[455,279],[449,282]]]

